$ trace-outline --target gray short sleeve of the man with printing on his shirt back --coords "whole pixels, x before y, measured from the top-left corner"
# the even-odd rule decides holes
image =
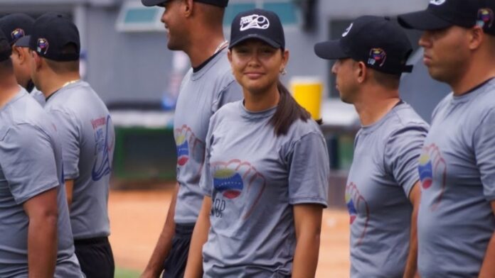
[[[60,144],[63,150],[64,179],[77,179],[79,177],[80,156],[80,125],[75,116],[65,111],[52,110],[53,122],[57,126]]]

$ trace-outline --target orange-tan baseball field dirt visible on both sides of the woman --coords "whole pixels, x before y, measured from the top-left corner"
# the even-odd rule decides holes
[[[115,265],[137,272],[146,267],[165,221],[171,187],[110,191],[110,242]],[[325,209],[321,230],[318,278],[349,276],[349,217],[346,211]]]

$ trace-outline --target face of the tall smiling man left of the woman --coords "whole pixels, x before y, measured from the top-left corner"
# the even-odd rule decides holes
[[[187,30],[183,17],[183,0],[169,0],[161,4],[165,8],[161,22],[165,24],[170,50],[184,50],[187,42]]]

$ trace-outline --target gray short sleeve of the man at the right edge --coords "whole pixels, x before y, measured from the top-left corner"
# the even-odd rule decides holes
[[[481,174],[484,196],[495,201],[495,109],[482,119],[474,130],[473,144],[477,167]]]

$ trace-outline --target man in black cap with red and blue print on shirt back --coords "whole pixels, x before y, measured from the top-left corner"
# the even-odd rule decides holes
[[[110,113],[90,84],[80,80],[78,28],[46,13],[29,40],[31,77],[46,96],[62,143],[63,169],[75,254],[88,278],[114,277],[107,201],[115,147]]]

